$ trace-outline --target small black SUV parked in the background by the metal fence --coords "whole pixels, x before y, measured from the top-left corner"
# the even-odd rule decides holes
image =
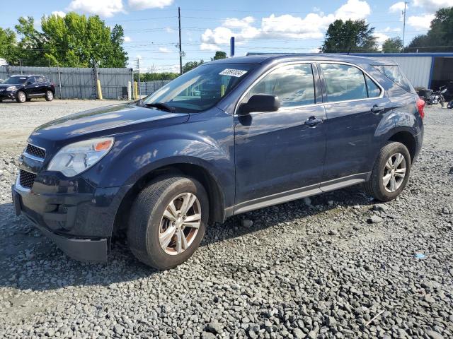
[[[0,102],[2,100],[16,100],[23,103],[33,97],[45,97],[52,101],[55,97],[55,85],[45,76],[10,76],[0,83]]]

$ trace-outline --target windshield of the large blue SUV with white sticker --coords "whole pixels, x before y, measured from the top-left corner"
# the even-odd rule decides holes
[[[145,97],[143,103],[165,104],[178,112],[201,112],[216,105],[255,68],[256,64],[198,66]]]

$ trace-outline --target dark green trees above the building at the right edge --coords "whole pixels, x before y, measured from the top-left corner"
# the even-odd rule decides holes
[[[406,52],[453,52],[453,7],[441,8],[426,34],[413,38]]]

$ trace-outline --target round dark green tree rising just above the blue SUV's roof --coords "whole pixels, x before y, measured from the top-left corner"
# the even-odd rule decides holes
[[[335,20],[328,26],[321,51],[324,53],[376,52],[374,27],[365,20]]]

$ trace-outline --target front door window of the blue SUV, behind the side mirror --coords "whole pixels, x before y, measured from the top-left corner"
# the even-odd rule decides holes
[[[314,78],[311,64],[287,65],[271,71],[253,86],[243,102],[247,102],[252,95],[257,94],[277,96],[281,107],[314,104]]]

